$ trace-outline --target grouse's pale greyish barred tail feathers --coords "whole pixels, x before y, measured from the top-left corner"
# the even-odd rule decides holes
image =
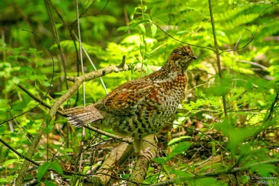
[[[86,125],[89,122],[103,119],[102,114],[94,107],[94,104],[67,109],[65,114],[69,123],[75,127],[82,127],[82,125]]]

